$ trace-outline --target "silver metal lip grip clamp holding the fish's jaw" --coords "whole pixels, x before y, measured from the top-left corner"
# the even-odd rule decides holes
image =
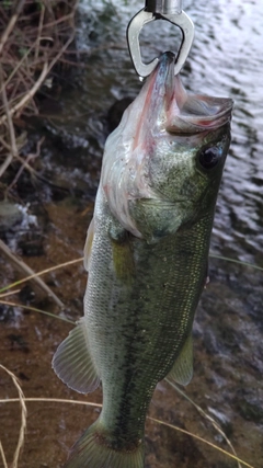
[[[146,0],[146,7],[130,20],[127,27],[130,58],[135,70],[142,78],[155,70],[159,59],[155,58],[149,64],[142,61],[139,33],[145,24],[156,20],[167,20],[182,31],[183,39],[175,60],[174,75],[178,75],[184,66],[194,39],[194,24],[182,10],[182,0]]]

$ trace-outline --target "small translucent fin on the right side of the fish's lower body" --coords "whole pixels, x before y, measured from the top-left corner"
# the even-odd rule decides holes
[[[172,369],[167,375],[168,380],[176,384],[187,385],[193,377],[193,340],[192,334],[185,341],[183,349],[173,364]]]

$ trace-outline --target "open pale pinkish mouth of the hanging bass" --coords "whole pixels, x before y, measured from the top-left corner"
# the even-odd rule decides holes
[[[174,76],[175,56],[162,54],[149,77],[150,99],[146,101],[150,119],[172,134],[196,134],[216,129],[231,119],[233,102],[227,98],[188,95],[179,76]],[[148,105],[147,105],[148,104]]]

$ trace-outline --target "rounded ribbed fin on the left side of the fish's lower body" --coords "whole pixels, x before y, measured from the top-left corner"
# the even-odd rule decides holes
[[[99,386],[100,377],[91,356],[83,318],[58,346],[53,368],[68,387],[80,393],[93,391]]]

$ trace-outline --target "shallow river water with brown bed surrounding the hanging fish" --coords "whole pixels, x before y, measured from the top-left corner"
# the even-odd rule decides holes
[[[49,189],[34,187],[34,193],[28,190],[25,197],[38,226],[28,225],[28,230],[41,238],[43,252],[30,254],[28,249],[23,250],[24,243],[8,237],[13,249],[19,253],[22,249],[24,260],[36,271],[82,254],[108,133],[107,112],[117,100],[135,98],[141,87],[125,38],[127,22],[140,8],[138,0],[80,2],[77,49],[83,67],[70,72],[60,112],[47,110],[44,123],[35,130],[35,138],[46,138],[39,169],[54,184]],[[185,88],[235,100],[232,144],[218,197],[211,254],[263,267],[263,3],[185,0],[184,10],[195,24],[194,45],[182,70]],[[176,49],[179,42],[176,28],[165,21],[151,23],[141,33],[145,59]],[[11,265],[1,264],[3,276],[8,272],[10,281],[15,278]],[[261,468],[262,272],[211,256],[209,273],[210,284],[196,315],[194,378],[186,393],[221,425],[238,456]],[[48,279],[66,305],[62,315],[72,320],[82,313],[84,283],[81,264],[54,273]],[[59,312],[43,298],[31,301],[27,295],[20,299]],[[70,326],[28,310],[24,315],[20,308],[11,316],[8,312],[2,311],[1,361],[20,376],[25,396],[81,399],[50,369],[52,355]],[[2,374],[0,391],[2,398],[15,397],[15,389]],[[100,390],[89,400],[100,402]],[[69,447],[98,416],[96,409],[66,403],[28,402],[27,409],[21,468],[61,467]],[[19,433],[18,406],[4,403],[0,412],[4,422],[0,437],[11,460]],[[211,424],[167,384],[158,386],[150,414],[229,449]],[[238,466],[215,448],[150,421],[146,442],[147,468]]]

